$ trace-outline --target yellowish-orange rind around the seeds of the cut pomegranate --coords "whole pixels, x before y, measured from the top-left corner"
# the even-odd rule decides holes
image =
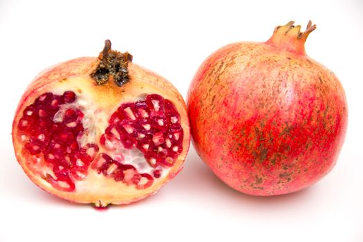
[[[107,82],[102,86],[97,86],[91,79],[90,73],[95,70],[98,63],[99,59],[96,57],[80,57],[47,68],[35,77],[21,97],[12,124],[12,142],[15,156],[33,183],[46,192],[60,198],[75,203],[92,203],[96,206],[133,203],[151,194],[155,194],[162,185],[169,182],[175,174],[178,174],[183,169],[183,162],[189,149],[190,140],[186,105],[180,93],[165,78],[133,63],[129,64],[128,68],[129,76],[131,77],[130,82],[121,87],[116,86],[114,82]],[[100,184],[102,188],[97,189],[97,180],[100,177],[96,171],[90,170],[88,177],[82,180],[82,183],[85,183],[84,187],[89,187],[89,189],[83,192],[77,189],[75,192],[59,191],[59,189],[55,189],[44,178],[37,176],[31,167],[26,165],[27,157],[24,157],[21,153],[22,144],[20,142],[19,130],[17,129],[17,124],[26,106],[32,104],[41,93],[58,89],[69,89],[74,91],[76,95],[82,94],[89,97],[93,103],[97,104],[97,109],[104,111],[104,118],[97,120],[102,123],[100,125],[103,125],[103,127],[107,125],[108,118],[111,117],[113,111],[123,102],[135,102],[136,97],[140,95],[159,93],[165,99],[171,100],[176,106],[178,113],[180,113],[180,123],[184,132],[183,151],[181,151],[173,167],[170,167],[167,176],[156,179],[153,185],[146,189],[136,189],[136,187],[127,186],[124,183],[118,183],[106,178],[101,178]],[[101,134],[102,130],[98,133]],[[100,135],[97,136],[95,141],[99,142],[99,140]]]

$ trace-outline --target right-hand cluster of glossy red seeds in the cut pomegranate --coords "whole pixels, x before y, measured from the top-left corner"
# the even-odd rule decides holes
[[[137,147],[144,153],[144,158],[151,167],[158,165],[170,167],[174,165],[178,153],[183,150],[181,143],[183,129],[180,126],[180,115],[172,102],[156,94],[147,95],[145,101],[122,104],[111,115],[109,127],[101,136],[100,143],[106,150],[112,151],[118,146],[115,139],[121,140],[124,149]],[[115,159],[119,160],[118,156],[115,156]],[[123,161],[124,158],[120,160],[120,162]],[[99,172],[106,173],[105,169],[108,167],[109,165],[102,167]],[[119,169],[120,167],[117,168],[117,171],[113,171],[113,174],[119,174]],[[158,178],[160,172],[156,171],[154,177]],[[118,180],[123,180],[124,174],[119,174],[117,177]],[[147,183],[141,184],[140,179],[140,174],[133,177],[133,184],[140,185],[139,188],[149,183],[147,181]],[[143,180],[145,181],[147,178]],[[123,181],[128,184],[127,181]]]

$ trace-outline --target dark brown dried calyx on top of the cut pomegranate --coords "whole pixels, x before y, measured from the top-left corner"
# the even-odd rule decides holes
[[[111,41],[106,39],[104,41],[104,49],[98,59],[100,60],[100,64],[91,73],[91,77],[97,85],[105,84],[110,79],[118,86],[129,82],[130,78],[127,66],[129,62],[132,62],[132,55],[111,50]]]

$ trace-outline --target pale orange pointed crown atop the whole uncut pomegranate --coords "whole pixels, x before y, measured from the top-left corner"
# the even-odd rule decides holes
[[[306,30],[301,32],[301,26],[294,26],[294,23],[294,21],[290,21],[284,26],[277,26],[274,28],[274,33],[272,37],[266,41],[266,44],[288,50],[297,55],[306,55],[305,41],[310,32],[313,32],[317,26],[309,21]]]

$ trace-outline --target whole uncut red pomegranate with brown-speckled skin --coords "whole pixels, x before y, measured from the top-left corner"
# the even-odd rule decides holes
[[[325,176],[348,120],[337,77],[305,53],[290,21],[264,43],[227,45],[207,57],[189,86],[194,147],[230,187],[257,196],[288,194]]]

